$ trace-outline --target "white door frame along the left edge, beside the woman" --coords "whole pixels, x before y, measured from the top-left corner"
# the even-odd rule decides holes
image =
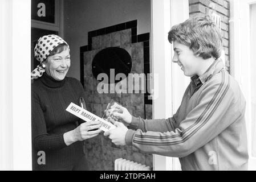
[[[0,1],[0,171],[31,170],[30,0]]]

